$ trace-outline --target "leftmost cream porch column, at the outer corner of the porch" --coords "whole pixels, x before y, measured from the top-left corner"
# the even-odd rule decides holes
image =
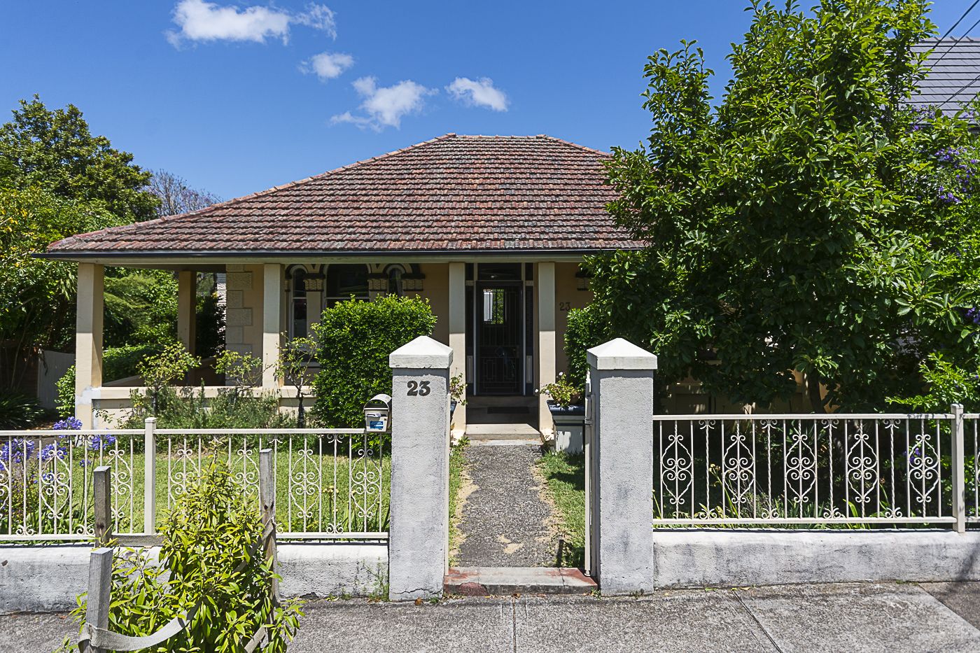
[[[74,416],[92,428],[92,389],[102,387],[102,320],[105,268],[78,264],[74,340]]]

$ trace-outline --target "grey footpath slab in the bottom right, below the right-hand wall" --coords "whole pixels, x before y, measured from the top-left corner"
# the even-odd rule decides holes
[[[980,651],[980,631],[914,584],[785,585],[732,592],[786,653]]]

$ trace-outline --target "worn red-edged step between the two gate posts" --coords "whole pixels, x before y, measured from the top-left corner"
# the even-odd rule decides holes
[[[596,581],[570,567],[454,567],[443,580],[447,594],[589,594]]]

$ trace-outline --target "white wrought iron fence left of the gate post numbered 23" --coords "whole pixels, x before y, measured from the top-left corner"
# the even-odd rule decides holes
[[[213,460],[259,502],[272,450],[280,539],[385,539],[390,435],[360,428],[0,431],[0,541],[94,534],[92,472],[112,468],[113,531],[154,535]]]

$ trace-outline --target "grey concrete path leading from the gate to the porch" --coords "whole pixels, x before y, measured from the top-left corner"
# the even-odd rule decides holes
[[[540,456],[527,444],[466,447],[457,567],[555,564],[553,511],[535,474]]]

